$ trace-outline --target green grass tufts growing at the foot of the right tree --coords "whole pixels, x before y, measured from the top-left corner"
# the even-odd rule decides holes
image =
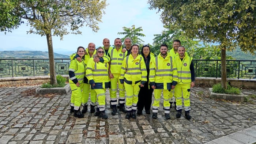
[[[227,84],[227,89],[224,89],[221,87],[221,84],[215,84],[212,86],[212,92],[218,93],[218,94],[236,94],[239,95],[241,93],[241,90],[236,87],[232,87],[229,84]]]

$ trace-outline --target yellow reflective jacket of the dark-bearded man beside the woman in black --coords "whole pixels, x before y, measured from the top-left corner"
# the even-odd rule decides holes
[[[156,86],[156,89],[164,90],[170,90],[173,81],[175,81],[175,84],[177,83],[177,68],[169,53],[165,58],[159,54],[153,59],[150,66],[149,80],[151,84]]]

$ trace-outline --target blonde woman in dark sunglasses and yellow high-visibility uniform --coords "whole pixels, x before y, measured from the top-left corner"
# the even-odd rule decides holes
[[[98,97],[98,107],[95,116],[103,119],[108,118],[105,113],[105,91],[109,87],[108,63],[94,62],[94,58],[102,58],[104,49],[98,48],[96,54],[89,59],[86,66],[86,77],[89,80],[91,89],[95,90]]]

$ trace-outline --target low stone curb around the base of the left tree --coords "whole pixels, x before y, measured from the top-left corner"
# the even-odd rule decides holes
[[[69,91],[71,91],[71,88],[69,84],[67,84],[65,87],[56,87],[56,88],[36,88],[35,92],[37,94],[67,94]]]

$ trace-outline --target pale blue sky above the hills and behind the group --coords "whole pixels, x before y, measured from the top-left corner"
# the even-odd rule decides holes
[[[82,27],[82,35],[64,35],[63,41],[60,37],[53,37],[54,52],[76,51],[78,46],[87,48],[88,43],[93,42],[97,46],[103,46],[104,38],[110,39],[113,45],[115,38],[123,38],[125,35],[118,35],[123,32],[123,27],[142,27],[141,33],[146,37],[141,37],[145,43],[153,43],[154,34],[160,34],[163,24],[157,10],[149,10],[147,0],[107,0],[109,4],[102,16],[102,23],[99,23],[100,30],[95,33],[89,27]],[[12,33],[0,32],[0,51],[4,50],[39,50],[48,51],[46,36],[41,37],[36,34],[27,34],[30,27],[22,24]]]

